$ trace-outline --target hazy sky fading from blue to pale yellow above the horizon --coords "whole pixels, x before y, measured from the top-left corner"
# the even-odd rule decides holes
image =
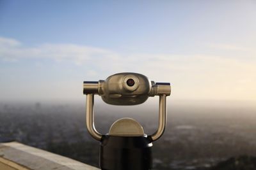
[[[256,1],[0,0],[0,101],[81,101],[124,71],[256,103]]]

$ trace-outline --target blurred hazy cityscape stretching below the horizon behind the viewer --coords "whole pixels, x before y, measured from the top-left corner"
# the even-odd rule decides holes
[[[98,107],[95,124],[102,133],[120,117],[133,117],[151,134],[157,108],[114,111]],[[168,111],[168,126],[154,143],[154,169],[211,169],[241,155],[256,155],[256,111],[253,108],[182,107]],[[81,104],[0,104],[0,142],[19,141],[92,166],[99,166],[99,143],[85,127]],[[119,113],[118,113],[119,112]],[[118,113],[118,114],[116,114]]]

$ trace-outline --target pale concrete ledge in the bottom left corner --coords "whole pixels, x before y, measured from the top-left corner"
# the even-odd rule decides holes
[[[17,142],[0,143],[0,169],[6,170],[99,170],[69,159]]]

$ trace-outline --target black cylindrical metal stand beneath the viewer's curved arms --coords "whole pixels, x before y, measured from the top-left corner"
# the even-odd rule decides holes
[[[148,136],[102,136],[102,170],[152,169],[152,141]]]

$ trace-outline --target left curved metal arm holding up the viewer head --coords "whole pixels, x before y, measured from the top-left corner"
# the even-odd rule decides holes
[[[86,94],[86,127],[90,135],[100,141],[102,134],[100,134],[94,127],[94,94]]]

